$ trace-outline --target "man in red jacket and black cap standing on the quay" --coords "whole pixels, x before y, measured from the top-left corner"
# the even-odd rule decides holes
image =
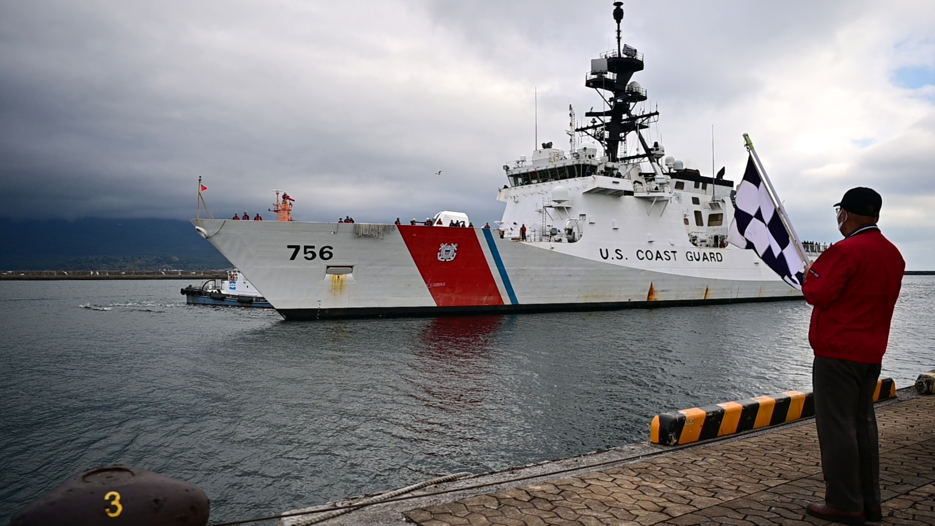
[[[876,225],[882,204],[870,188],[844,194],[835,205],[844,239],[806,267],[802,286],[814,306],[809,343],[825,474],[825,504],[809,504],[807,511],[845,524],[882,519],[873,391],[906,268]]]

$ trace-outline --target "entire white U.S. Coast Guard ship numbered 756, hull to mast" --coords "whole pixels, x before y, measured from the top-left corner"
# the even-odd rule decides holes
[[[579,124],[569,108],[567,151],[545,142],[503,166],[498,228],[296,222],[277,193],[279,221],[193,219],[195,230],[287,319],[801,299],[754,251],[727,244],[724,168],[703,175],[647,139],[659,112],[631,80],[643,55],[621,41],[621,6],[616,49],[584,79],[604,109]]]

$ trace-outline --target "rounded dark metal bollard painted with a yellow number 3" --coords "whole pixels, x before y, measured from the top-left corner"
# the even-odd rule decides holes
[[[108,466],[70,476],[26,504],[10,526],[205,526],[208,495],[151,471]]]

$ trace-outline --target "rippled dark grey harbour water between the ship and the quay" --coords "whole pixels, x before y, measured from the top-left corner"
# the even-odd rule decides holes
[[[647,439],[673,409],[810,388],[801,301],[285,322],[178,281],[0,283],[0,521],[90,467],[279,513]],[[935,277],[907,276],[884,374],[935,366]]]

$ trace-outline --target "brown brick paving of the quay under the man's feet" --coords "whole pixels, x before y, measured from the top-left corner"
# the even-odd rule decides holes
[[[935,525],[935,396],[877,408],[885,524]],[[412,509],[420,526],[827,524],[814,423]]]

